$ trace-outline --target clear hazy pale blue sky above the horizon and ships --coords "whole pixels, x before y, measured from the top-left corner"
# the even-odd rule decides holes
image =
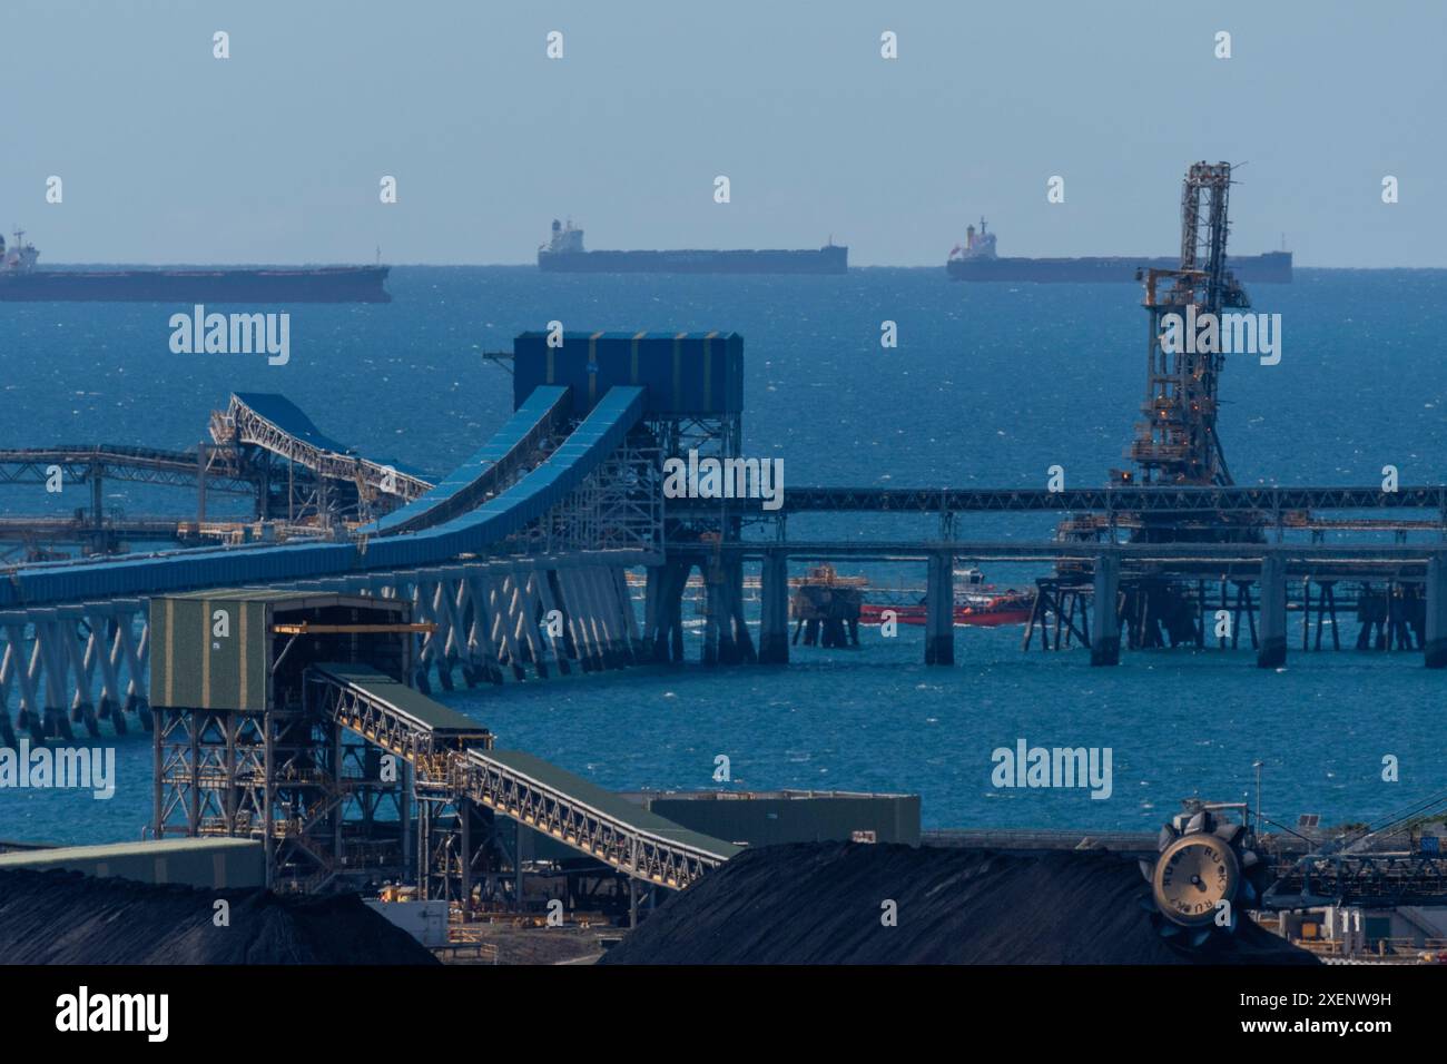
[[[0,0],[0,224],[42,263],[524,263],[554,217],[851,265],[939,265],[981,216],[1001,255],[1169,255],[1187,165],[1224,159],[1239,255],[1447,266],[1444,39],[1441,0]]]

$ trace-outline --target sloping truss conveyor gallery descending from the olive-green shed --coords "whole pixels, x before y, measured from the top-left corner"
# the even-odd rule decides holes
[[[476,802],[632,879],[682,890],[739,851],[540,757],[493,750],[492,735],[469,718],[365,666],[311,666],[307,701],[405,759],[418,789]]]

